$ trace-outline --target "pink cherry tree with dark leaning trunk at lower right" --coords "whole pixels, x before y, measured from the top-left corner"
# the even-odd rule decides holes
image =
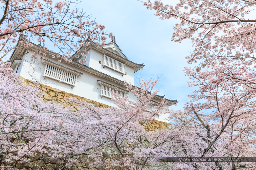
[[[190,138],[180,148],[182,157],[254,157],[255,89],[223,74],[223,68],[204,72],[186,69],[199,86],[188,97],[184,112],[174,111],[173,128],[190,130]],[[185,165],[185,164],[183,164]],[[189,163],[191,169],[254,169],[255,163]]]

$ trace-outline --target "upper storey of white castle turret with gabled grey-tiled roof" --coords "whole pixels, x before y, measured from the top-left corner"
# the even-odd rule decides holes
[[[102,45],[101,48],[98,48],[96,43],[90,41],[89,45],[84,48],[89,52],[86,54],[87,63],[84,63],[85,66],[131,84],[134,84],[134,73],[144,67],[143,64],[130,61],[115,40]],[[80,53],[73,55],[72,59],[74,61],[79,62],[79,60],[83,59],[83,57],[75,57],[76,55],[81,56],[83,50],[81,49],[80,51]]]

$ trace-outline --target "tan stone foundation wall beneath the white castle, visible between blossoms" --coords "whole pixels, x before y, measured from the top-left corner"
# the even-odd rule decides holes
[[[23,77],[20,77],[21,79],[24,79]],[[26,80],[26,83],[31,84],[34,86],[33,82],[30,80]],[[62,91],[60,89],[56,89],[56,88],[52,88],[48,85],[43,85],[43,84],[37,84],[40,89],[43,91],[43,96],[41,96],[44,101],[51,101],[52,103],[61,103],[63,106],[72,106],[72,103],[70,103],[67,99],[70,97],[76,97],[77,99],[83,99],[86,102],[89,103],[93,103],[95,106],[98,106],[100,108],[108,108],[110,106],[103,104],[103,103],[99,103],[97,101],[93,101],[84,97],[80,97],[71,93],[67,93],[65,91]],[[76,111],[75,108],[73,108],[73,111]],[[145,129],[147,131],[152,131],[152,130],[157,130],[157,129],[168,129],[168,126],[170,126],[170,123],[165,123],[165,122],[161,122],[161,121],[157,121],[157,120],[152,120],[149,122],[145,122],[143,124],[143,126],[145,127]],[[19,140],[21,139],[15,139],[14,142],[19,142]],[[133,146],[131,145],[131,149],[133,148]],[[102,152],[102,159],[104,159],[105,161],[110,161],[111,159],[118,159],[120,157],[119,155],[119,151],[114,147],[114,146],[109,146],[106,147],[104,146],[101,149]],[[18,161],[15,163],[13,168],[13,170],[18,170],[18,169],[28,169],[28,170],[59,170],[61,169],[61,165],[58,163],[58,160],[56,160],[55,158],[52,158],[50,156],[48,156],[47,154],[41,154],[40,152],[36,152],[35,156],[30,156],[29,161],[27,162],[21,162]],[[61,158],[60,158],[61,160]],[[72,166],[70,168],[68,168],[69,170],[100,170],[100,169],[104,169],[104,170],[126,170],[127,167],[123,166],[123,165],[119,165],[119,166],[114,166],[114,167],[110,167],[110,168],[106,168],[103,165],[99,165],[98,167],[90,167],[90,158],[88,157],[88,155],[79,155],[77,157],[77,162],[72,164]],[[4,164],[4,163],[3,163]],[[1,163],[0,163],[0,167],[1,167]]]

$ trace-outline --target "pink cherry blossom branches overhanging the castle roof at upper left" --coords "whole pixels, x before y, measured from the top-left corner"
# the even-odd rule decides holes
[[[61,1],[53,3],[52,0],[1,0],[3,15],[0,16],[0,61],[8,62],[9,52],[16,47],[19,36],[32,42],[38,42],[41,50],[33,55],[37,56],[47,46],[56,47],[57,57],[70,61],[72,54],[79,52],[80,48],[87,46],[87,38],[104,44],[107,37],[104,25],[90,20],[83,10],[75,5],[79,1]],[[74,9],[73,9],[74,8]],[[111,39],[114,38],[109,33]],[[20,43],[20,46],[32,47],[31,42]],[[86,49],[83,48],[81,63],[86,62]],[[46,54],[43,54],[46,56]],[[19,57],[19,56],[17,56]],[[55,57],[55,56],[52,56]]]

